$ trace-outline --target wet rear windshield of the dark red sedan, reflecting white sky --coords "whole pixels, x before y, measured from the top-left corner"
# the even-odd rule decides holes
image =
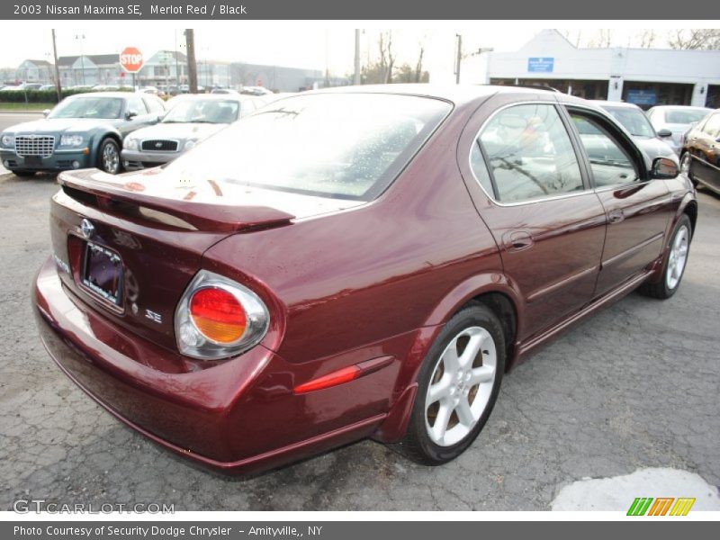
[[[222,130],[167,172],[193,179],[370,201],[451,110],[396,94],[289,97]]]

